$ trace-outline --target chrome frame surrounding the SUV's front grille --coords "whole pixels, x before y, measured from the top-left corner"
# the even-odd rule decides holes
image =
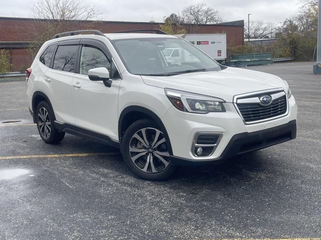
[[[254,102],[253,101],[253,98],[258,98],[258,97],[251,97],[251,98],[247,98],[250,99],[250,101],[238,101],[238,98],[241,98],[241,97],[245,97],[245,96],[252,96],[252,95],[256,95],[256,94],[268,94],[270,92],[274,92],[274,91],[280,91],[280,92],[284,92],[284,95],[286,96],[286,112],[283,113],[282,115],[278,115],[278,116],[274,116],[274,117],[270,117],[270,118],[265,118],[265,119],[262,119],[262,120],[256,120],[256,121],[250,121],[250,122],[247,122],[244,120],[243,116],[242,116],[242,113],[241,111],[239,110],[238,106],[237,106],[237,103],[260,103],[260,100],[259,102]],[[274,100],[275,98],[278,98],[278,97],[281,97],[282,95],[280,96],[277,96],[278,95],[278,92],[273,94],[274,95],[274,98],[272,97],[272,99]],[[276,95],[276,96],[275,96]],[[258,98],[259,99],[259,98]],[[241,100],[241,99],[240,99]],[[240,117],[242,118],[242,121],[244,122],[245,125],[251,125],[251,124],[255,124],[255,123],[260,123],[260,122],[265,122],[265,121],[270,121],[270,120],[274,120],[274,119],[277,119],[277,118],[281,118],[283,116],[286,116],[288,113],[289,113],[289,103],[288,103],[288,95],[287,95],[287,92],[284,90],[284,88],[282,87],[279,87],[279,88],[273,88],[273,89],[268,89],[268,90],[261,90],[261,91],[254,91],[254,92],[248,92],[248,93],[244,93],[244,94],[239,94],[239,95],[235,95],[233,97],[233,105],[236,109],[236,111],[238,112],[238,114],[240,115]]]

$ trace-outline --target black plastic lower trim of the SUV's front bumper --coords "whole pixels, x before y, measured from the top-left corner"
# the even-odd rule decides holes
[[[259,150],[294,138],[296,138],[296,120],[265,130],[235,134],[222,154],[215,159],[195,161],[188,158],[170,156],[170,160],[178,165],[218,162],[242,153]]]

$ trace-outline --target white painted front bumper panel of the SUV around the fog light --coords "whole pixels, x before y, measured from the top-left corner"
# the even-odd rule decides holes
[[[220,160],[226,155],[230,142],[235,140],[235,136],[245,136],[245,134],[254,134],[277,129],[293,120],[296,122],[297,106],[293,96],[288,98],[288,114],[277,119],[259,122],[255,124],[244,124],[242,118],[237,112],[233,103],[224,103],[226,112],[210,112],[207,114],[197,114],[182,112],[171,107],[162,117],[162,121],[168,132],[173,158],[188,159],[195,162],[208,162]],[[294,130],[291,130],[291,139]],[[215,132],[222,133],[223,137],[217,145],[215,151],[209,156],[198,157],[191,151],[194,136],[198,132]],[[268,138],[268,137],[267,137]],[[279,143],[279,142],[277,142]],[[276,143],[273,143],[276,144]],[[270,144],[263,145],[267,147]]]

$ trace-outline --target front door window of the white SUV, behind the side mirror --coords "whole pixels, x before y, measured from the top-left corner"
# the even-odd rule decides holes
[[[88,75],[88,70],[96,67],[106,67],[110,71],[110,62],[100,49],[84,45],[81,49],[79,73]]]

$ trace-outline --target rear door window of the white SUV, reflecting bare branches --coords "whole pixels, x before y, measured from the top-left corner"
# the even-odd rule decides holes
[[[57,48],[54,69],[75,72],[78,45],[60,45]]]

